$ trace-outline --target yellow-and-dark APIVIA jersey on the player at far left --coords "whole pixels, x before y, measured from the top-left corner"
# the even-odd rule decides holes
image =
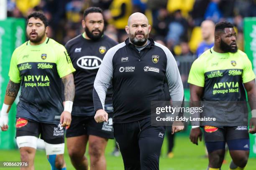
[[[75,69],[63,45],[46,38],[40,45],[27,41],[13,52],[10,80],[21,82],[16,117],[55,123],[64,110],[61,77]]]

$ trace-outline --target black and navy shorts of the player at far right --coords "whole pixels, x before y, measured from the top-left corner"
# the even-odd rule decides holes
[[[250,150],[247,126],[204,126],[204,136],[209,153],[214,150],[225,150],[226,143],[229,150]]]

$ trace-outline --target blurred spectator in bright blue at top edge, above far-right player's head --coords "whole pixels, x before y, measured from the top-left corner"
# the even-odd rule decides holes
[[[211,0],[206,11],[205,11],[205,20],[212,20],[215,23],[220,21],[220,18],[223,17],[223,14],[219,8],[220,0]]]

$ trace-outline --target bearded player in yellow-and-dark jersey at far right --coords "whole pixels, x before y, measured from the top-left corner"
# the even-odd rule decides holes
[[[225,143],[233,160],[230,170],[243,170],[250,149],[248,132],[256,133],[256,85],[250,60],[237,49],[236,32],[231,23],[215,25],[214,47],[193,62],[188,82],[192,107],[200,107],[198,101],[218,102],[200,113],[200,117],[206,114],[216,118],[216,122],[210,124],[200,122],[209,153],[208,170],[220,169]],[[246,101],[246,92],[252,110],[249,130],[247,106],[240,105]],[[198,138],[202,138],[202,132],[199,126],[192,126],[191,142],[197,144]]]

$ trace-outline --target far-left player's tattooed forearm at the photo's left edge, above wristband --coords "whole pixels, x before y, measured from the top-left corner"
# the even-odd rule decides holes
[[[18,95],[19,90],[20,90],[20,82],[15,83],[15,82],[10,80],[8,82],[8,85],[7,85],[7,88],[6,88],[4,103],[7,104],[7,105],[12,105],[15,98]]]

